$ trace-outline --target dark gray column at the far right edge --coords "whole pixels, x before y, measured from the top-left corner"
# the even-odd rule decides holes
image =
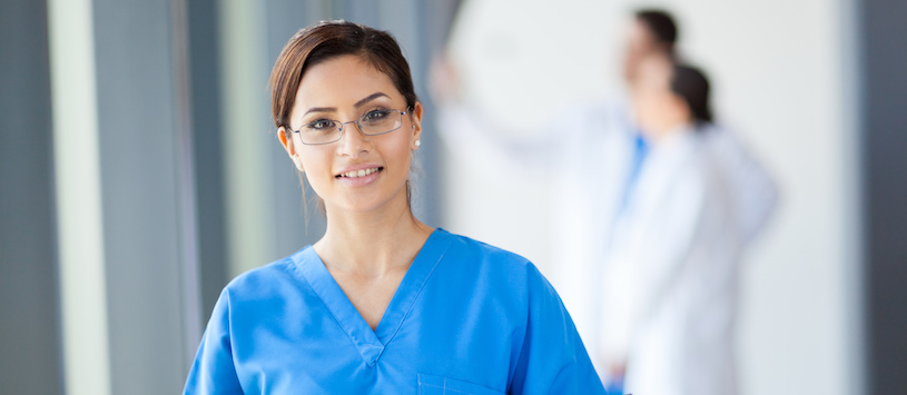
[[[869,394],[907,392],[907,2],[858,1]]]

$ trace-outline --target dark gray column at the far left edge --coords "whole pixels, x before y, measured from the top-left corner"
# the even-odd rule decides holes
[[[0,392],[61,394],[47,3],[0,1]]]

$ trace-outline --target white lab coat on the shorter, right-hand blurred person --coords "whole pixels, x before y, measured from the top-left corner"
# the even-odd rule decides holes
[[[632,394],[735,394],[743,240],[703,130],[659,142],[602,254],[599,356]]]

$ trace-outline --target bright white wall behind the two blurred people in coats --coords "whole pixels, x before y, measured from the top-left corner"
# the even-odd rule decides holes
[[[825,0],[655,4],[674,12],[681,52],[709,73],[719,120],[781,188],[780,209],[743,271],[742,393],[859,393],[847,9]],[[623,27],[641,6],[652,3],[466,1],[452,38],[465,97],[497,124],[538,132],[550,113],[541,109],[618,87]],[[544,270],[546,182],[447,154],[445,226]]]

